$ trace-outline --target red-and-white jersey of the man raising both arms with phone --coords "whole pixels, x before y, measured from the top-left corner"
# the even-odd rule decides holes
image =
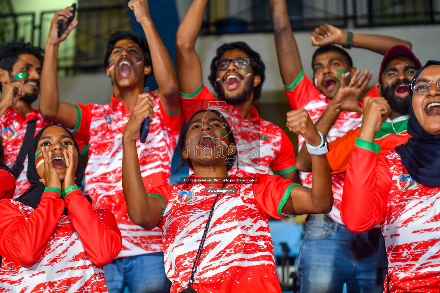
[[[181,127],[180,110],[167,112],[160,101],[154,99],[154,117],[150,121],[147,141],[136,141],[139,165],[147,191],[168,184],[171,159]],[[112,95],[106,105],[76,105],[78,111],[75,138],[88,141],[88,163],[85,168],[84,193],[92,197],[93,204],[108,208],[114,214],[122,234],[122,249],[118,257],[162,251],[161,230],[145,230],[128,217],[122,192],[122,134],[131,114],[122,101]]]

